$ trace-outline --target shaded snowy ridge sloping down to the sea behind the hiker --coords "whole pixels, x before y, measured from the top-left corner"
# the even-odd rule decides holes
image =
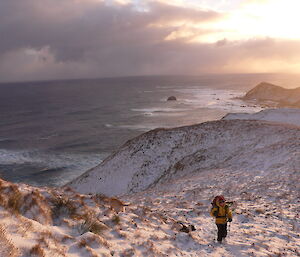
[[[81,193],[120,195],[208,169],[290,169],[290,161],[299,162],[293,152],[295,142],[300,142],[299,133],[297,127],[246,120],[157,129],[127,142],[68,185]]]

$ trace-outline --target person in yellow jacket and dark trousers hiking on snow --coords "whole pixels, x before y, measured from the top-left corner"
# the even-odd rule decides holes
[[[222,239],[227,236],[227,222],[232,222],[232,212],[226,204],[223,195],[218,195],[212,202],[210,215],[216,218],[216,225],[218,227],[217,241],[222,243]]]

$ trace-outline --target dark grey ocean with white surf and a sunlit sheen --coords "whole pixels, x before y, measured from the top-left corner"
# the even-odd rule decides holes
[[[262,110],[236,99],[261,81],[300,85],[299,76],[280,74],[1,83],[0,177],[62,186],[151,129]]]

